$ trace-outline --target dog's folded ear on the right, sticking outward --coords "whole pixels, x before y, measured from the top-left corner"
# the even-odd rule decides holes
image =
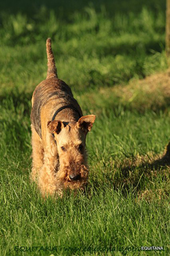
[[[91,130],[94,121],[95,115],[82,116],[77,122],[77,126],[87,133]]]

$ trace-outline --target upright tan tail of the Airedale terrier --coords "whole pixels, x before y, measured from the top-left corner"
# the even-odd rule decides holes
[[[57,76],[57,69],[55,65],[54,54],[52,51],[52,40],[48,38],[46,40],[46,54],[47,54],[47,76],[46,78],[50,77],[58,77]]]

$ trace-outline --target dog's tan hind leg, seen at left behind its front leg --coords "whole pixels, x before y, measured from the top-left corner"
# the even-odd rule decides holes
[[[44,149],[42,145],[42,140],[35,131],[33,125],[31,125],[32,130],[32,173],[31,173],[31,179],[33,181],[36,180],[36,177],[39,174],[39,170],[43,165],[43,158],[44,158]]]

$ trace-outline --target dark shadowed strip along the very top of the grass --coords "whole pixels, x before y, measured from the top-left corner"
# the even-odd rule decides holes
[[[81,0],[81,1],[47,1],[44,0],[43,2],[40,0],[31,0],[31,1],[21,1],[16,0],[15,2],[8,0],[8,1],[1,1],[0,9],[2,11],[8,11],[9,13],[17,13],[22,12],[24,14],[27,14],[30,18],[32,18],[34,15],[37,14],[40,8],[46,7],[48,11],[54,10],[56,15],[59,16],[59,18],[62,18],[64,20],[69,20],[70,15],[74,12],[81,12],[82,9],[89,6],[91,4],[96,11],[101,11],[101,6],[106,7],[106,11],[109,12],[109,14],[112,16],[115,12],[133,12],[138,13],[141,11],[142,7],[145,6],[149,9],[152,9],[154,12],[157,10],[165,11],[165,1],[160,0],[141,0],[140,2],[136,2],[136,0],[129,0],[129,1],[122,1],[121,5],[119,3],[119,0],[93,0],[93,1],[87,1],[87,0]]]

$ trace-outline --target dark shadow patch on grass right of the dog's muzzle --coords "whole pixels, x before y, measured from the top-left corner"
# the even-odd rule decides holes
[[[147,156],[147,159],[140,160],[138,158],[127,159],[124,163],[118,163],[112,173],[106,173],[102,178],[98,174],[93,173],[91,184],[87,187],[87,191],[89,193],[92,188],[95,193],[100,193],[101,187],[103,189],[107,184],[107,188],[120,190],[125,197],[130,192],[140,195],[142,191],[148,191],[151,181],[152,183],[154,180],[156,182],[160,177],[162,181],[168,181],[170,175],[169,167],[170,142],[163,156],[156,160],[149,159],[149,156]],[[154,184],[156,184],[155,182]],[[156,189],[159,190],[158,188]],[[167,197],[169,194],[168,188],[164,187],[162,191],[162,195],[164,193],[164,196]],[[152,197],[154,197],[154,193]]]

